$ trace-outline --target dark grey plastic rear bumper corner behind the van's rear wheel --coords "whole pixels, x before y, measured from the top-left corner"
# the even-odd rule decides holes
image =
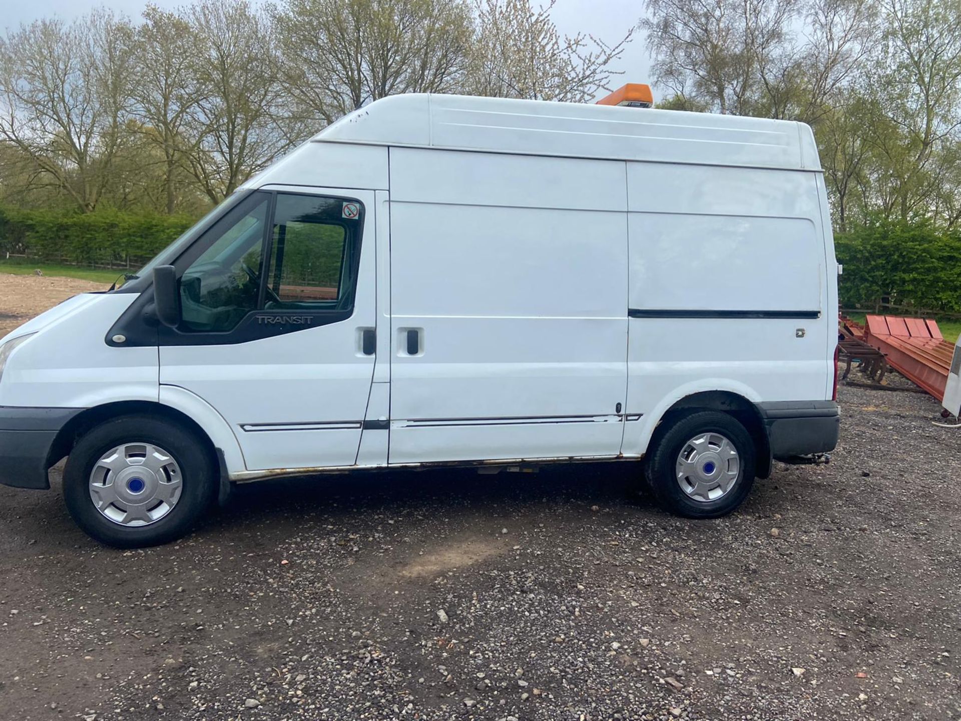
[[[841,415],[834,401],[776,401],[758,403],[771,445],[780,459],[833,451],[838,443]]]

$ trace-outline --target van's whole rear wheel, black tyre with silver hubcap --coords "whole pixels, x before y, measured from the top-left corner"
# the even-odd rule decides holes
[[[665,510],[717,518],[736,509],[754,484],[751,434],[733,416],[703,410],[665,420],[654,432],[645,467]]]

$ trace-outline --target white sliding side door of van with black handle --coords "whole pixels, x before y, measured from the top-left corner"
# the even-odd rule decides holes
[[[391,148],[390,172],[390,462],[616,455],[624,162]]]

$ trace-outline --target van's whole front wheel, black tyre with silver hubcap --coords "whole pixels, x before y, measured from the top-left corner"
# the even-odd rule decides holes
[[[63,469],[63,500],[88,535],[117,548],[180,538],[210,508],[216,465],[175,422],[125,415],[83,435]]]

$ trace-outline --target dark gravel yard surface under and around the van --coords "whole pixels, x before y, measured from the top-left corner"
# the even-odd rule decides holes
[[[896,379],[897,382],[897,379]],[[176,545],[0,486],[0,718],[961,718],[957,429],[845,387],[727,518],[633,463],[241,487]]]

